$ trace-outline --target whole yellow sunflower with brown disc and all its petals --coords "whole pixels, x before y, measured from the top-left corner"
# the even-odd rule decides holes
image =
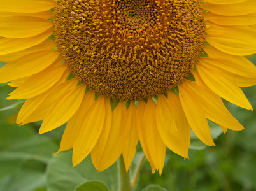
[[[140,142],[152,173],[166,146],[188,158],[190,132],[213,146],[208,120],[243,126],[222,98],[252,106],[255,0],[0,0],[0,83],[27,99],[17,124],[65,124],[59,152],[98,171]]]

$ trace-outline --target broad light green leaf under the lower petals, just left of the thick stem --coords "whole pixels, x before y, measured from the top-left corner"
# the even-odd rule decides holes
[[[103,172],[98,172],[90,160],[90,155],[80,164],[72,167],[72,150],[54,155],[48,163],[46,181],[48,191],[70,191],[85,181],[99,180],[110,190],[117,190],[117,168],[114,164]]]

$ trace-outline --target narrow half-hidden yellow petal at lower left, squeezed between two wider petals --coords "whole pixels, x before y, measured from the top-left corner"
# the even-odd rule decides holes
[[[64,72],[64,74],[62,75],[62,77],[60,78],[60,80],[55,84],[55,87],[57,87],[57,85],[60,85],[61,83],[64,83],[64,81],[66,80],[66,77],[68,76],[69,71],[66,70]],[[32,97],[30,99],[27,99],[27,101],[25,101],[25,103],[23,104],[22,108],[20,108],[20,111],[18,112],[18,117],[16,120],[17,124],[20,124],[22,122],[24,122],[24,120],[26,118],[29,117],[29,115],[31,115],[31,113],[36,110],[36,108],[39,106],[39,104],[45,99],[45,97],[55,88],[52,87],[49,90],[47,90],[46,92],[43,92],[43,94],[37,95],[36,97]]]

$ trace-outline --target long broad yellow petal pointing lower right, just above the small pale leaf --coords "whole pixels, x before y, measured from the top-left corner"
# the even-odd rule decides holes
[[[206,118],[232,130],[244,129],[243,126],[239,124],[238,120],[232,117],[231,113],[229,113],[222,103],[222,99],[217,94],[204,85],[189,80],[186,81],[187,87],[199,97]]]

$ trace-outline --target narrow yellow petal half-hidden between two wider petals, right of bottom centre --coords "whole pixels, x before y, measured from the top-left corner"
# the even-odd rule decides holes
[[[169,91],[168,101],[174,113],[176,127],[185,145],[185,151],[188,153],[191,129],[190,125],[188,124],[186,115],[182,109],[179,96]]]

